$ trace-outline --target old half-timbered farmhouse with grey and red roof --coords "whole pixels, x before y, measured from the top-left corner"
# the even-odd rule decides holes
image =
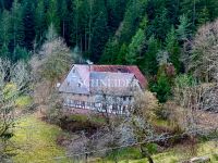
[[[137,66],[74,64],[59,87],[66,110],[125,114],[147,80]]]

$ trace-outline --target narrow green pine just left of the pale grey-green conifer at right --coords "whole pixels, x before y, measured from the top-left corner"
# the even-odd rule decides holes
[[[175,70],[179,72],[181,68],[180,63],[180,47],[177,39],[175,29],[172,26],[171,30],[166,38],[166,50],[169,52],[170,62],[174,65]]]

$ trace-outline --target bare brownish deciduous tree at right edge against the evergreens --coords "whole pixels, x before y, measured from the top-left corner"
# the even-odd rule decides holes
[[[204,82],[217,80],[218,20],[197,30],[190,52],[187,70]]]

